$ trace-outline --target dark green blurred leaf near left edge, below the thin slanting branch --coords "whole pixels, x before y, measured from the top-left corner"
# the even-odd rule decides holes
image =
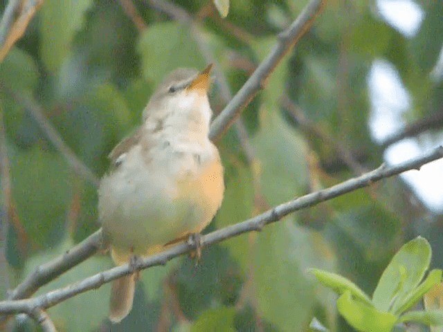
[[[71,199],[71,171],[60,154],[37,147],[11,158],[12,196],[33,246],[60,241]]]

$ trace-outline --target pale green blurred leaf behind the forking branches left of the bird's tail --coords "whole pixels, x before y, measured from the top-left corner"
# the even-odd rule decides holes
[[[24,275],[29,275],[37,266],[62,255],[66,250],[72,248],[73,245],[74,243],[71,239],[64,239],[59,246],[51,248],[51,250],[47,250],[40,255],[36,255],[27,261]],[[98,257],[97,255],[90,257],[53,282],[42,287],[37,295],[53,291],[55,288],[80,282],[86,277],[111,268],[111,265],[111,260],[108,257]],[[48,315],[51,316],[57,329],[72,332],[94,331],[98,329],[108,313],[109,294],[111,292],[110,285],[111,284],[105,284],[96,290],[76,295],[50,308]]]

